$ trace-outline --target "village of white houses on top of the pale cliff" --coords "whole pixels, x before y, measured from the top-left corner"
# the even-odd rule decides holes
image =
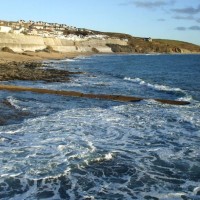
[[[65,31],[71,32],[72,34],[65,34]],[[94,34],[91,30],[76,28],[74,26],[68,26],[66,24],[59,23],[48,23],[43,21],[34,22],[32,20],[25,21],[4,21],[0,20],[0,32],[2,33],[13,33],[13,34],[24,34],[24,35],[35,35],[41,37],[53,37],[59,39],[68,40],[83,40],[89,38],[106,39],[106,35]],[[87,32],[84,34],[73,34],[74,32]]]

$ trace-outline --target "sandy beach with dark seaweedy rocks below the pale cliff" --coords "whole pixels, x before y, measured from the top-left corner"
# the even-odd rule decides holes
[[[30,52],[26,54],[0,52],[0,81],[69,81],[74,72],[48,69],[42,61],[53,59],[74,58],[80,55],[75,53],[45,53]],[[80,72],[81,73],[81,72]]]

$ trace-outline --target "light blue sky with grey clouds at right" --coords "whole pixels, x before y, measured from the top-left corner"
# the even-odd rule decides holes
[[[200,45],[200,0],[0,0],[0,20],[57,22]]]

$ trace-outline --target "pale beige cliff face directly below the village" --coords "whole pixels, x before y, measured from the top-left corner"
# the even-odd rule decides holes
[[[83,41],[72,41],[58,38],[43,38],[40,36],[30,36],[22,34],[0,33],[0,49],[9,47],[15,52],[43,50],[51,46],[59,52],[112,52],[106,44],[127,45],[121,39],[89,39]]]

